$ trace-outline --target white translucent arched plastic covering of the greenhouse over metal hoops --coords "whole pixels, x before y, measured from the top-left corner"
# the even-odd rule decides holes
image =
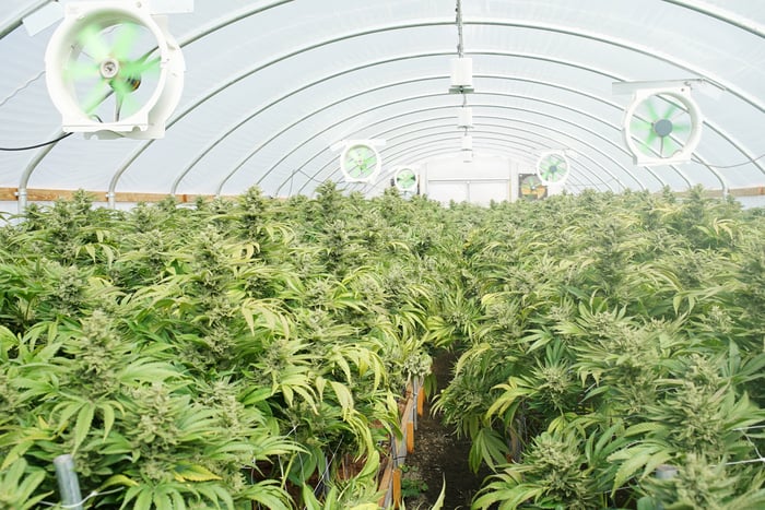
[[[569,192],[765,193],[762,1],[104,0],[165,12],[183,54],[183,92],[155,140],[61,138],[46,49],[74,3],[0,3],[4,211],[44,200],[35,190],[84,189],[114,206],[252,185],[310,195],[326,180],[372,195],[399,165],[458,157],[463,106],[476,155],[522,170],[565,150]],[[458,57],[472,59],[471,93],[449,92]],[[688,161],[635,163],[619,83],[691,88],[701,139]],[[370,139],[386,141],[381,173],[345,182],[336,144]]]

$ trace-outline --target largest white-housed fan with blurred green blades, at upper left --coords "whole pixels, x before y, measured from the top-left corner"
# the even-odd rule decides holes
[[[45,54],[46,83],[64,132],[155,139],[178,105],[184,58],[148,2],[82,1]]]

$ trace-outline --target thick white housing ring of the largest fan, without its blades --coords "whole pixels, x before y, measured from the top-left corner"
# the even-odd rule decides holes
[[[154,37],[160,56],[160,76],[151,97],[138,111],[114,122],[101,122],[83,111],[62,73],[63,62],[70,57],[78,31],[97,22],[131,22],[143,26]],[[48,43],[45,66],[48,93],[61,112],[62,131],[82,132],[105,139],[123,137],[148,140],[164,137],[165,121],[180,100],[186,71],[180,47],[168,31],[167,17],[153,14],[151,5],[139,0],[67,3],[63,21]]]

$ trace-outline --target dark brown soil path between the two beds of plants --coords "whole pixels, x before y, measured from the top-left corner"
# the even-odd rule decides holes
[[[451,368],[456,360],[454,353],[434,356],[432,371],[437,382],[436,394],[451,380]],[[440,416],[431,413],[431,402],[425,401],[423,416],[419,418],[414,434],[414,452],[407,455],[407,472],[402,476],[402,489],[409,487],[420,494],[404,498],[407,510],[433,508],[445,482],[442,508],[469,509],[473,496],[490,474],[489,471],[482,471],[476,475],[470,471],[469,453],[470,438],[458,438],[454,428],[446,427]],[[426,484],[426,489],[422,483]]]

